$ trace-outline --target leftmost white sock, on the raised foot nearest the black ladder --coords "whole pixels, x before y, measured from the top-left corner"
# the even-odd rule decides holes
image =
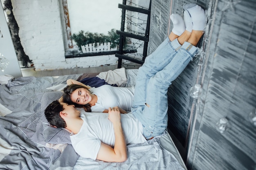
[[[182,17],[178,14],[171,14],[170,16],[171,21],[173,22],[173,33],[175,33],[176,35],[182,35],[182,33],[185,31],[186,26],[185,23],[182,19]]]

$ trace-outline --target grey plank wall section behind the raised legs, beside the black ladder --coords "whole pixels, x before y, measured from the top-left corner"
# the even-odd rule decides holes
[[[200,6],[206,7],[208,1],[200,2]],[[195,1],[182,0],[153,0],[151,5],[150,20],[150,45],[148,54],[152,53],[161,42],[171,33],[172,23],[169,19],[171,13],[183,16],[183,5],[195,3]],[[190,62],[183,73],[173,82],[168,91],[168,129],[186,148],[188,137],[189,119],[193,99],[189,96],[189,89],[198,80],[198,60]],[[192,110],[193,111],[193,110]]]

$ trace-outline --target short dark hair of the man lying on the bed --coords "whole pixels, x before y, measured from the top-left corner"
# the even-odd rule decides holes
[[[67,124],[60,116],[60,112],[64,108],[58,100],[53,101],[45,109],[45,117],[50,125],[56,126],[57,128],[66,128]]]

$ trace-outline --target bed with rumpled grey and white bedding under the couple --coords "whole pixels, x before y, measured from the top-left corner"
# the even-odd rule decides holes
[[[45,119],[44,109],[61,97],[67,79],[83,80],[89,86],[107,83],[129,87],[135,85],[136,74],[137,69],[121,68],[57,77],[0,77],[0,169],[186,170],[167,131],[143,144],[129,145],[127,161],[107,163],[79,157],[72,148],[70,133],[49,126]]]

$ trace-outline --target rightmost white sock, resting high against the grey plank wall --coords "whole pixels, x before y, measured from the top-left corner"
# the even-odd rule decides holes
[[[204,31],[206,25],[206,15],[204,9],[196,5],[187,9],[187,11],[192,18],[193,30]]]

